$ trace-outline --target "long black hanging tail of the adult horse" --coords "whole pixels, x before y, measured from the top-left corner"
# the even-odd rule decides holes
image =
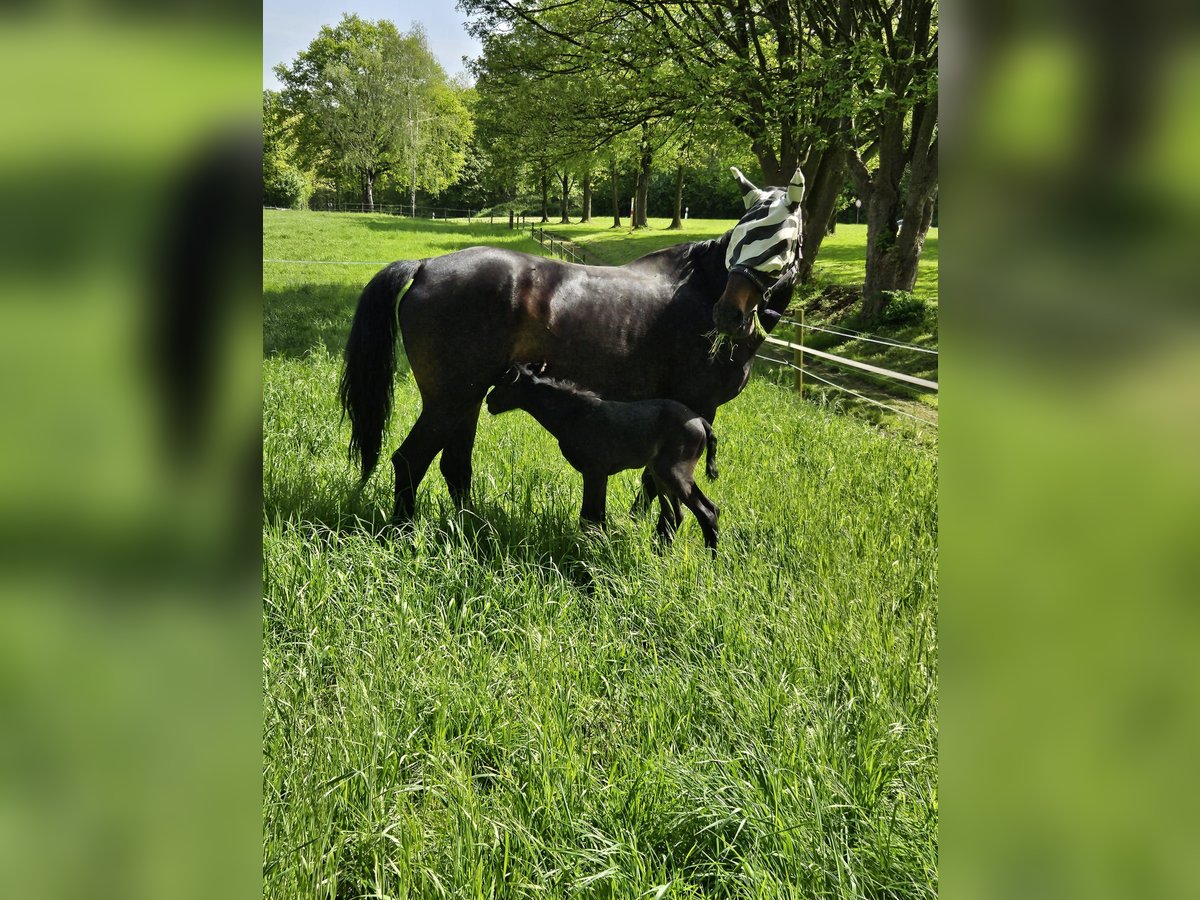
[[[383,445],[383,432],[391,415],[391,396],[396,376],[396,332],[400,330],[401,292],[416,276],[422,262],[401,259],[362,288],[354,313],[350,336],[346,341],[342,368],[342,409],[350,418],[350,462],[362,466],[365,482]]]

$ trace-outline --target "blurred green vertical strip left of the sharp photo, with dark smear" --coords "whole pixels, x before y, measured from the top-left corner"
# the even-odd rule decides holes
[[[180,265],[258,218],[259,11],[229,8],[0,13],[6,896],[258,890],[259,246],[205,290]],[[181,202],[222,167],[236,203]],[[185,299],[212,302],[186,442]]]

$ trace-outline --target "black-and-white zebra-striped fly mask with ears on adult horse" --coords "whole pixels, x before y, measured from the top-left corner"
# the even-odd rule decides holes
[[[732,172],[742,185],[746,214],[730,235],[725,266],[778,275],[799,258],[804,175],[797,169],[786,191],[760,191],[737,168]]]

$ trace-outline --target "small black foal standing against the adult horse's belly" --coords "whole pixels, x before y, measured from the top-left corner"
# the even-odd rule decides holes
[[[659,496],[658,532],[667,542],[690,509],[716,553],[716,504],[696,485],[696,463],[708,450],[707,473],[716,478],[713,426],[673,400],[622,403],[602,400],[572,384],[542,378],[528,366],[512,366],[487,395],[492,415],[524,409],[558,438],[563,456],[583,475],[586,522],[604,527],[608,476],[646,468]]]

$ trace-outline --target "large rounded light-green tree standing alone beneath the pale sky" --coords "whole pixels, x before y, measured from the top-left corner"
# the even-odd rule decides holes
[[[415,208],[418,187],[445,186],[462,167],[470,116],[419,28],[401,35],[346,14],[275,73],[302,155],[358,180],[366,209],[382,176],[402,170]]]

